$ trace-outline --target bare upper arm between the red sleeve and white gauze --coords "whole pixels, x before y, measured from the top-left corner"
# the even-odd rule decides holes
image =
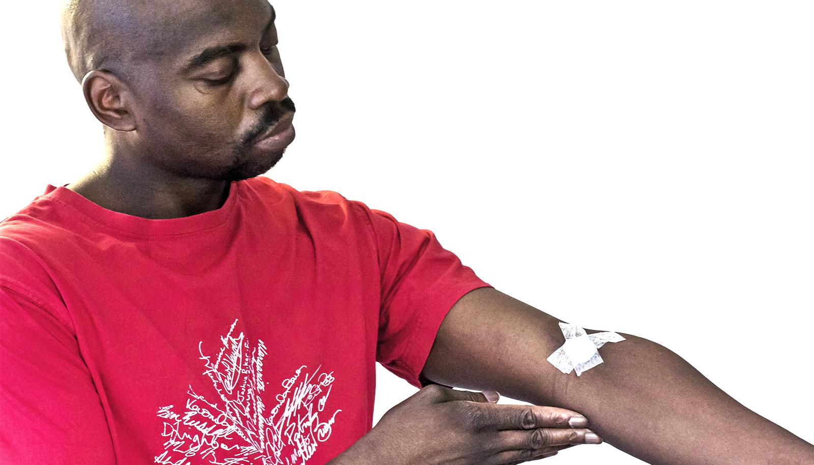
[[[560,321],[497,289],[475,289],[444,318],[422,374],[444,385],[496,389],[521,400],[534,393],[550,402],[569,378],[545,362],[562,345]]]

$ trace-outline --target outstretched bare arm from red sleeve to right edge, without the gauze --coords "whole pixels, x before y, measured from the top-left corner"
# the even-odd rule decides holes
[[[580,377],[562,374],[546,360],[562,345],[559,321],[496,289],[475,289],[444,318],[422,374],[579,411],[606,442],[648,463],[814,463],[814,446],[641,337],[603,345],[604,363]]]

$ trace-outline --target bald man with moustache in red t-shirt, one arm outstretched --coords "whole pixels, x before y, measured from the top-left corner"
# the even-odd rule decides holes
[[[72,2],[63,24],[109,156],[0,229],[4,461],[519,463],[604,438],[811,462],[650,341],[563,375],[558,320],[431,233],[256,177],[294,137],[267,3]],[[430,385],[370,430],[374,360],[572,410]]]

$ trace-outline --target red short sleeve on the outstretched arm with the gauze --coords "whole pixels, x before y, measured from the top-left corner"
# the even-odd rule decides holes
[[[376,360],[421,388],[419,375],[444,316],[470,290],[492,286],[445,250],[430,230],[353,202],[370,219],[378,251],[382,293]]]

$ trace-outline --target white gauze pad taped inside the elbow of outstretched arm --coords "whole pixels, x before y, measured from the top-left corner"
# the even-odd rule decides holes
[[[549,355],[547,360],[566,375],[571,370],[575,370],[576,376],[580,376],[585,370],[596,367],[602,363],[602,357],[599,356],[597,349],[606,342],[624,341],[624,337],[616,332],[586,334],[583,328],[575,324],[560,323],[559,325],[562,335],[565,336],[565,344],[558,350],[554,350],[554,354]]]

